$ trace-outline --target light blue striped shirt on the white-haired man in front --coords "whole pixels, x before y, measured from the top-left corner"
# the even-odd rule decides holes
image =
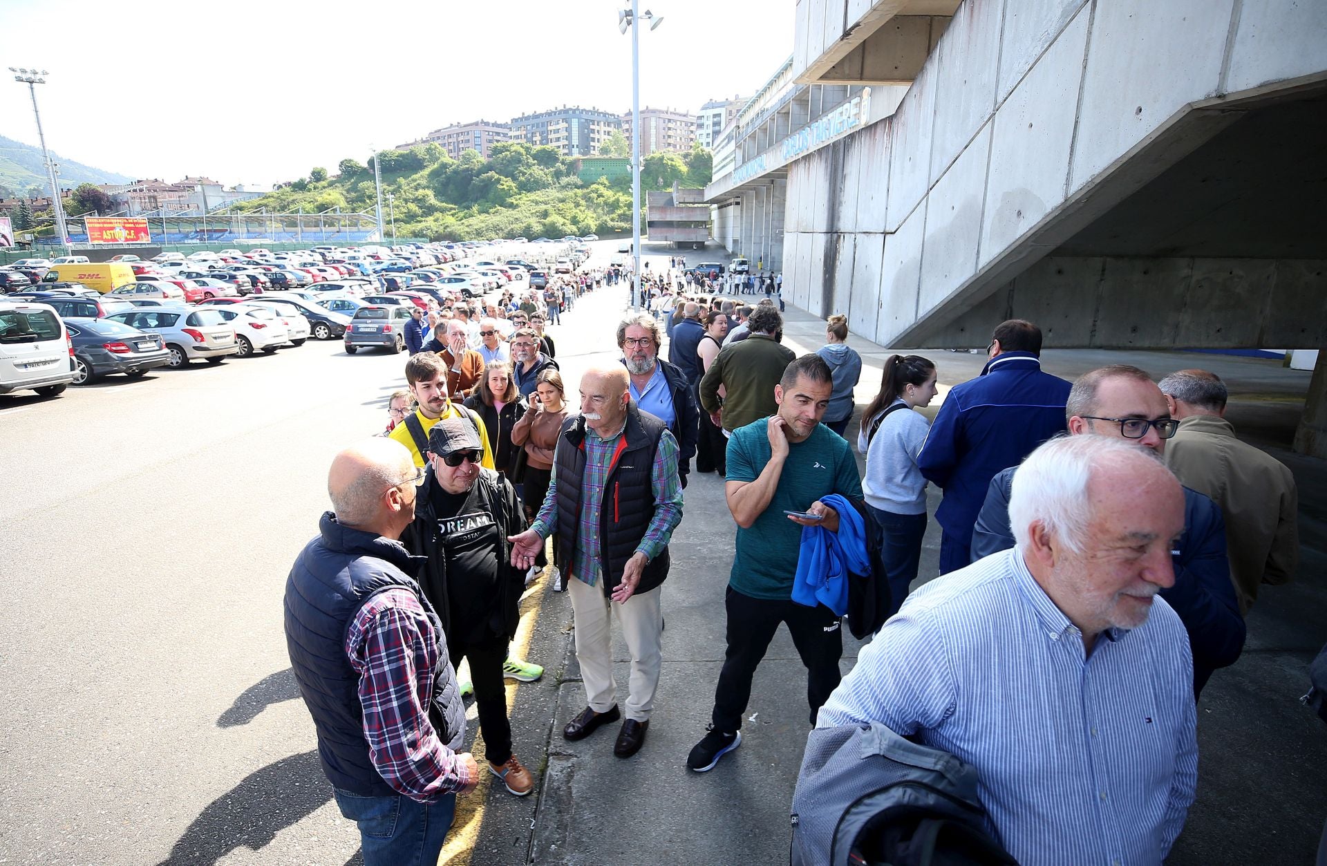
[[[1160,863],[1197,785],[1180,617],[1157,597],[1087,656],[1016,549],[914,591],[863,649],[817,727],[868,721],[974,765],[1023,866]]]

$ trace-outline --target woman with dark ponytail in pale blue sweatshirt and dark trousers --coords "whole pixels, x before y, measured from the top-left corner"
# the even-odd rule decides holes
[[[861,489],[880,524],[881,557],[893,594],[890,615],[908,597],[917,578],[921,540],[926,534],[926,479],[917,454],[930,422],[914,408],[936,397],[936,365],[921,355],[890,355],[880,379],[880,393],[861,415],[857,450],[867,455]]]

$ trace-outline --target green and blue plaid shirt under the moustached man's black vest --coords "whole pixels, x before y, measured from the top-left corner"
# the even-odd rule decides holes
[[[625,428],[624,424],[622,430]],[[598,537],[600,509],[604,505],[604,483],[608,480],[613,454],[617,451],[617,440],[621,438],[621,430],[609,439],[600,439],[598,434],[585,427],[585,476],[581,484],[581,513],[576,519],[576,548],[572,556],[571,576],[591,586],[598,580],[604,566]],[[559,436],[557,447],[567,448],[569,446],[565,439]],[[654,516],[650,517],[650,525],[645,528],[641,542],[636,545],[637,553],[644,553],[646,561],[664,552],[673,536],[673,529],[682,523],[682,481],[677,475],[677,439],[665,430],[660,438],[660,447],[654,451],[654,464],[650,467]],[[555,465],[556,460],[555,451]],[[544,504],[531,528],[544,538],[557,529],[556,468],[548,483],[548,496],[544,497]]]

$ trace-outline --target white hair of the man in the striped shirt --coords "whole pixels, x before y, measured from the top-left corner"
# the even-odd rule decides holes
[[[1018,549],[1027,550],[1032,524],[1040,524],[1068,550],[1083,553],[1093,515],[1087,491],[1093,473],[1131,464],[1161,465],[1148,448],[1091,435],[1056,436],[1027,455],[1014,472],[1009,497]]]

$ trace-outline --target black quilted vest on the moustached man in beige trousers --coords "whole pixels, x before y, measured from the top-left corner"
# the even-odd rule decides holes
[[[617,454],[604,481],[600,508],[600,550],[602,552],[604,595],[622,582],[626,561],[645,537],[654,516],[654,489],[650,484],[654,454],[667,426],[642,412],[636,401],[628,403],[626,427],[617,440]],[[580,523],[581,488],[585,477],[585,419],[568,418],[561,438],[569,447],[559,447],[553,456],[557,473],[557,556],[571,564],[576,554],[576,526]],[[667,548],[654,557],[641,574],[637,593],[648,593],[667,577]]]

